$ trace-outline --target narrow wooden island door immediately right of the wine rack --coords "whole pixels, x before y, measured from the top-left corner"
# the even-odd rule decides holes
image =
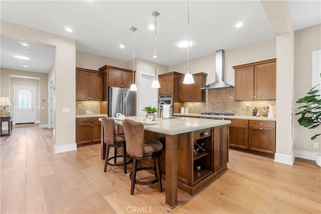
[[[222,168],[222,126],[214,127],[214,145],[213,145],[213,154],[214,154],[214,171]]]

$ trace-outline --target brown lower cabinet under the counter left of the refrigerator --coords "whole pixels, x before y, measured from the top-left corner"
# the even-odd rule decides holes
[[[98,117],[76,118],[76,143],[91,143],[101,139],[101,122]]]

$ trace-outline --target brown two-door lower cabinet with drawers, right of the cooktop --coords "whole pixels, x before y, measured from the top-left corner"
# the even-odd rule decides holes
[[[229,119],[229,146],[275,153],[275,121]]]

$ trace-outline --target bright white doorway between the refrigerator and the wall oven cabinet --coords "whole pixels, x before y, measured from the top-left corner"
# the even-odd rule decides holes
[[[154,79],[154,75],[151,73],[140,72],[139,78],[139,109],[143,109],[146,106],[152,106],[158,108],[157,88],[150,88]],[[145,116],[146,112],[138,111],[137,116]]]

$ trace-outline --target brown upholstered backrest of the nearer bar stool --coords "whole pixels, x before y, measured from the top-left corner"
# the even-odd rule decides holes
[[[134,157],[142,157],[144,154],[144,125],[130,119],[124,119],[121,123],[126,138],[127,153]]]

